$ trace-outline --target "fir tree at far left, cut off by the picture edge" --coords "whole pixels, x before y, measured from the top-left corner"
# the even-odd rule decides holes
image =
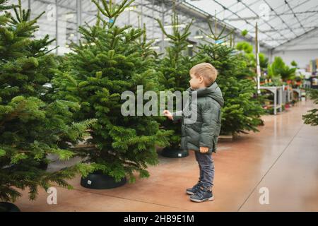
[[[0,10],[8,7],[0,1]],[[74,165],[57,172],[45,172],[40,165],[47,154],[69,160],[70,145],[85,135],[93,120],[75,123],[71,116],[78,104],[66,100],[48,101],[46,94],[54,57],[49,55],[49,37],[33,38],[37,18],[30,10],[13,6],[15,16],[4,12],[0,24],[0,200],[16,201],[18,189],[29,189],[35,199],[37,189],[50,184],[71,188],[65,179],[78,170],[88,173],[85,165]]]

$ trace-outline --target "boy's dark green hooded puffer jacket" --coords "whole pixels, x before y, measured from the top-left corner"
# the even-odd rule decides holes
[[[186,108],[188,107],[191,114],[185,114],[186,108],[183,112],[172,114],[174,121],[182,120],[181,148],[199,151],[200,147],[208,147],[207,154],[216,152],[220,135],[221,107],[224,104],[222,92],[217,83],[198,90],[189,88],[187,92],[189,92],[189,100]],[[192,100],[195,97],[194,93],[196,93],[197,105],[195,100]],[[196,117],[192,117],[194,113],[197,113]]]

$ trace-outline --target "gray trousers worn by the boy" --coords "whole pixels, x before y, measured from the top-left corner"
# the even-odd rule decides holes
[[[197,151],[194,151],[194,153],[196,161],[199,164],[199,181],[202,182],[205,188],[212,188],[214,179],[214,160],[212,154],[202,154]]]

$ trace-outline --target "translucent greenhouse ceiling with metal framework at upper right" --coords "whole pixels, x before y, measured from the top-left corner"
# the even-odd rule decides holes
[[[200,11],[216,16],[275,48],[318,28],[317,0],[184,0]]]

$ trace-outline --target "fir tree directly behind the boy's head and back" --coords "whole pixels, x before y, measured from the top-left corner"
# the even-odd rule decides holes
[[[258,131],[261,125],[261,114],[264,114],[259,100],[254,98],[256,83],[253,80],[242,78],[247,63],[235,49],[223,42],[228,35],[223,35],[225,26],[218,32],[209,24],[211,34],[206,34],[210,40],[199,46],[197,58],[211,63],[218,70],[216,82],[223,92],[225,105],[222,109],[221,134],[237,135],[247,131]]]

